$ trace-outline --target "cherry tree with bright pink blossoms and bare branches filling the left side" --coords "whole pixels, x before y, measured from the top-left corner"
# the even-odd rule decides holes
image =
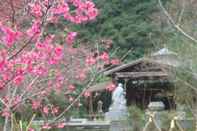
[[[27,103],[43,117],[52,116],[44,129],[63,128],[63,123],[54,122],[81,96],[90,95],[86,89],[104,64],[119,61],[111,60],[108,52],[95,56],[85,46],[73,48],[77,32],[50,34],[47,27],[62,18],[74,24],[94,21],[98,9],[91,0],[2,0],[0,4],[0,111],[5,118],[4,131],[9,130],[12,114]],[[85,83],[86,88],[73,98],[70,94],[76,90],[75,82]],[[65,94],[69,105],[60,111],[57,105],[46,102],[52,92]]]

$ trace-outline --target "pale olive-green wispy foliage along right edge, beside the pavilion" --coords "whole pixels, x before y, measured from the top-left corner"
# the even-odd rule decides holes
[[[185,1],[187,4],[189,1]],[[193,5],[186,5],[180,21],[180,27],[189,35],[196,37],[196,17],[197,13]],[[166,6],[166,9],[177,22],[182,8],[176,0],[172,0]],[[167,23],[167,19],[164,19]],[[182,33],[177,31],[171,24],[163,27],[164,40],[167,48],[177,53],[181,66],[176,69],[176,100],[178,103],[192,106],[196,98],[196,72],[197,72],[197,46],[196,43],[189,40]]]

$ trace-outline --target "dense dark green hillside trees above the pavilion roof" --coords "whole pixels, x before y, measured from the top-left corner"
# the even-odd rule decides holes
[[[160,37],[160,30],[153,21],[157,12],[157,0],[94,0],[100,15],[92,23],[73,26],[80,32],[83,41],[110,38],[112,50],[120,47],[117,56],[123,56],[129,49],[129,59],[144,55],[154,47]],[[154,41],[154,42],[153,42]]]

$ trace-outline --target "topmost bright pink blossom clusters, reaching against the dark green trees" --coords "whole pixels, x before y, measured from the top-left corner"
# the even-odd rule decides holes
[[[29,4],[31,9],[31,14],[40,19],[46,10],[49,9],[49,1],[45,1],[44,4],[41,4],[39,1]],[[70,9],[70,6],[74,6],[75,9]],[[60,16],[68,21],[71,21],[76,24],[82,22],[87,22],[94,20],[98,15],[98,9],[95,7],[95,4],[91,0],[67,0],[67,1],[57,1],[55,6],[50,9],[51,19],[54,20]]]

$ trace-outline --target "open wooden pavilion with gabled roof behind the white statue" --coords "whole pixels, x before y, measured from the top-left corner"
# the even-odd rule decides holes
[[[124,85],[127,106],[134,104],[142,109],[146,109],[151,101],[162,101],[165,109],[175,108],[173,74],[173,66],[150,58],[141,58],[104,72],[112,81]],[[99,85],[91,87],[90,91],[105,90],[105,83]]]

